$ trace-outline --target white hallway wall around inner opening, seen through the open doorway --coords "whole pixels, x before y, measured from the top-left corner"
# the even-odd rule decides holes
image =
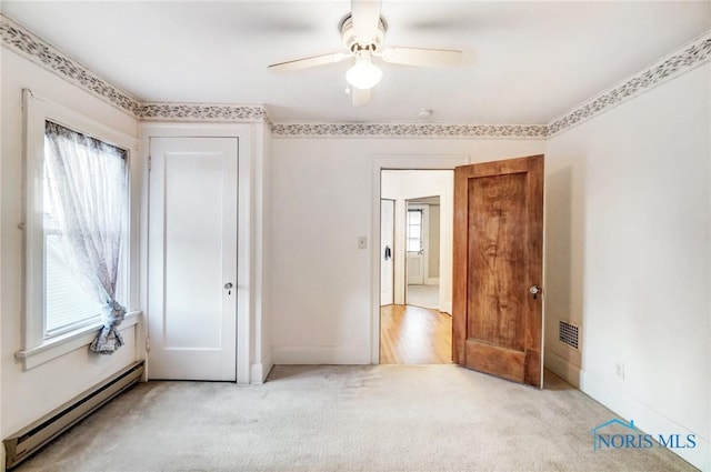
[[[454,173],[441,170],[385,170],[381,177],[382,198],[395,201],[394,302],[404,303],[407,200],[440,197],[441,272],[439,310],[452,312],[452,223],[454,218]],[[439,213],[438,213],[439,214]],[[440,245],[438,243],[438,245]],[[431,252],[431,251],[430,251]],[[439,260],[438,251],[438,260]]]

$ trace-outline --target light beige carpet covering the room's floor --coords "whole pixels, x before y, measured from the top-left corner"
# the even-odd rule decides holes
[[[599,450],[613,414],[457,365],[277,366],[263,385],[139,384],[17,471],[692,471]]]

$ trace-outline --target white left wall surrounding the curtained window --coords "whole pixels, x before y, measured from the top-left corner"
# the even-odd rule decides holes
[[[29,371],[23,371],[22,364],[14,358],[14,353],[22,349],[24,272],[23,232],[18,228],[24,220],[22,89],[29,88],[49,100],[79,110],[93,120],[131,137],[137,137],[138,131],[133,118],[6,49],[2,50],[1,73],[0,433],[4,438],[116,373],[139,355],[136,328],[130,328],[122,332],[126,345],[111,356],[90,354],[84,347]],[[140,165],[140,159],[134,163]]]

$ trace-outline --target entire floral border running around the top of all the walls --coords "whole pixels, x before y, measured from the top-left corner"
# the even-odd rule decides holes
[[[263,106],[141,102],[0,13],[2,46],[141,121],[263,122],[276,138],[507,138],[560,134],[711,59],[711,31],[574,107],[549,124],[274,123]]]

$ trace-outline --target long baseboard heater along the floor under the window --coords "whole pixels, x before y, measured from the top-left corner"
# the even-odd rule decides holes
[[[3,440],[6,469],[12,469],[24,461],[99,406],[140,381],[142,375],[143,361],[134,362]]]

